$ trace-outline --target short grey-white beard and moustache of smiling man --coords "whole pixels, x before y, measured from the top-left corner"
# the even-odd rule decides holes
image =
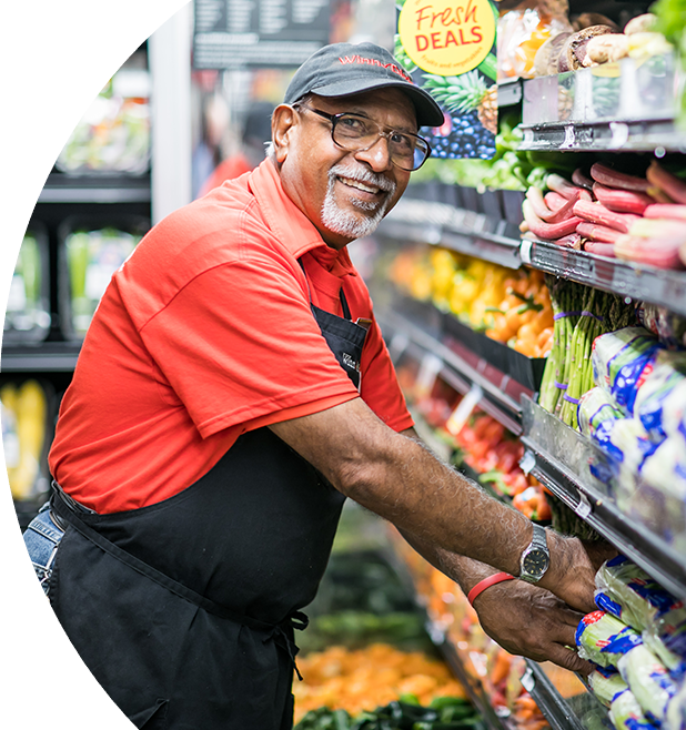
[[[357,180],[370,185],[377,185],[384,190],[387,195],[382,203],[366,203],[353,199],[352,204],[357,210],[363,212],[375,211],[371,216],[365,215],[361,220],[356,219],[350,213],[341,210],[335,200],[334,185],[335,179],[339,175],[351,178],[352,180]],[[386,178],[382,178],[370,171],[355,170],[353,172],[344,165],[336,165],[329,171],[329,186],[326,189],[326,195],[324,196],[324,203],[322,204],[322,223],[324,224],[324,227],[332,233],[337,233],[339,235],[344,235],[349,239],[362,239],[365,235],[371,235],[386,214],[394,192],[395,183]]]

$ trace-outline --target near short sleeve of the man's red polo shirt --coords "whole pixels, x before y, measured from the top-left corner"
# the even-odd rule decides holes
[[[214,266],[141,328],[203,438],[272,414],[276,422],[279,412],[297,406],[316,413],[334,396],[344,402],[357,395],[321,334],[294,266],[259,252]]]

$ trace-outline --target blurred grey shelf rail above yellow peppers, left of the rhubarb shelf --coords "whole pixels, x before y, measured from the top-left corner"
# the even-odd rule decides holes
[[[413,199],[401,200],[379,227],[389,239],[441,244],[507,268],[518,268],[522,263],[515,232],[516,226],[504,220]]]

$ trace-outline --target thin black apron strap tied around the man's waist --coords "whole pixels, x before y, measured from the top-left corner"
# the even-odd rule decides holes
[[[188,586],[184,586],[173,578],[170,578],[157,568],[153,568],[151,565],[148,565],[140,558],[137,558],[134,555],[127,552],[127,550],[123,550],[111,540],[108,540],[105,537],[100,535],[100,533],[95,531],[81,519],[81,517],[74,510],[74,507],[69,504],[68,495],[62,490],[62,487],[57,481],[53,480],[52,487],[52,496],[50,497],[51,509],[54,510],[54,513],[61,519],[71,525],[87,540],[93,543],[101,550],[111,555],[113,558],[129,566],[145,578],[149,578],[175,596],[179,596],[179,598],[182,598],[193,604],[194,606],[202,608],[209,614],[218,616],[222,619],[228,619],[235,623],[241,623],[255,631],[266,631],[268,637],[265,640],[274,638],[276,643],[285,649],[289,657],[291,658],[291,661],[293,662],[293,668],[295,669],[299,678],[302,679],[302,677],[300,677],[300,672],[297,671],[297,667],[295,666],[295,653],[297,649],[284,631],[283,625],[290,625],[292,628],[302,631],[306,628],[309,622],[307,616],[305,614],[295,611],[283,623],[268,623],[266,621],[260,621],[259,619],[239,614],[238,611],[232,611],[225,606],[221,606],[213,600],[201,596]],[[83,514],[85,515],[85,513]],[[279,639],[282,639],[282,641]]]

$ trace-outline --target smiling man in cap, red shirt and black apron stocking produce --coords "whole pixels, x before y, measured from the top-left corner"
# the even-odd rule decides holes
[[[6,578],[13,730],[290,728],[293,627],[345,497],[478,592],[506,648],[586,667],[565,645],[597,565],[417,442],[345,251],[441,120],[385,50],[326,47],[274,111],[271,158],[114,275],[61,406],[50,509]]]

